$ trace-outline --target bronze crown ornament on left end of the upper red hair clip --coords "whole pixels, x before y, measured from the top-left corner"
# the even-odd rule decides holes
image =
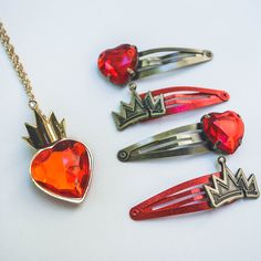
[[[118,130],[137,122],[166,114],[163,94],[154,98],[152,92],[147,92],[146,96],[140,98],[134,87],[129,86],[129,90],[132,92],[130,103],[121,102],[119,113],[112,113]]]

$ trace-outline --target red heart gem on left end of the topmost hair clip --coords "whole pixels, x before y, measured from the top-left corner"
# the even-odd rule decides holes
[[[100,71],[114,84],[127,84],[138,63],[137,48],[130,44],[122,44],[108,49],[98,56]]]

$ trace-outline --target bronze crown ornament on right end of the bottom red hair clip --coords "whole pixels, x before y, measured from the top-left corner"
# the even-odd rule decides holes
[[[222,156],[218,158],[218,163],[221,166],[222,178],[213,175],[213,185],[203,186],[213,208],[240,198],[259,198],[260,192],[253,174],[247,179],[243,170],[240,168],[233,175],[226,165],[226,158]]]

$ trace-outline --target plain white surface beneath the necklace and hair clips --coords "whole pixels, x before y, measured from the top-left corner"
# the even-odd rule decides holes
[[[33,123],[27,97],[0,49],[0,260],[251,260],[261,242],[261,201],[240,200],[216,211],[133,221],[132,206],[178,182],[217,170],[217,155],[123,164],[116,153],[159,132],[234,109],[246,123],[242,146],[229,157],[261,181],[261,2],[246,1],[12,1],[0,17],[49,114],[65,117],[67,134],[91,148],[95,168],[81,206],[43,195],[30,181],[34,153],[21,139]],[[226,90],[211,108],[138,124],[119,133],[111,117],[127,88],[97,72],[102,50],[121,43],[209,49],[211,62],[138,82],[138,91],[173,85]]]

